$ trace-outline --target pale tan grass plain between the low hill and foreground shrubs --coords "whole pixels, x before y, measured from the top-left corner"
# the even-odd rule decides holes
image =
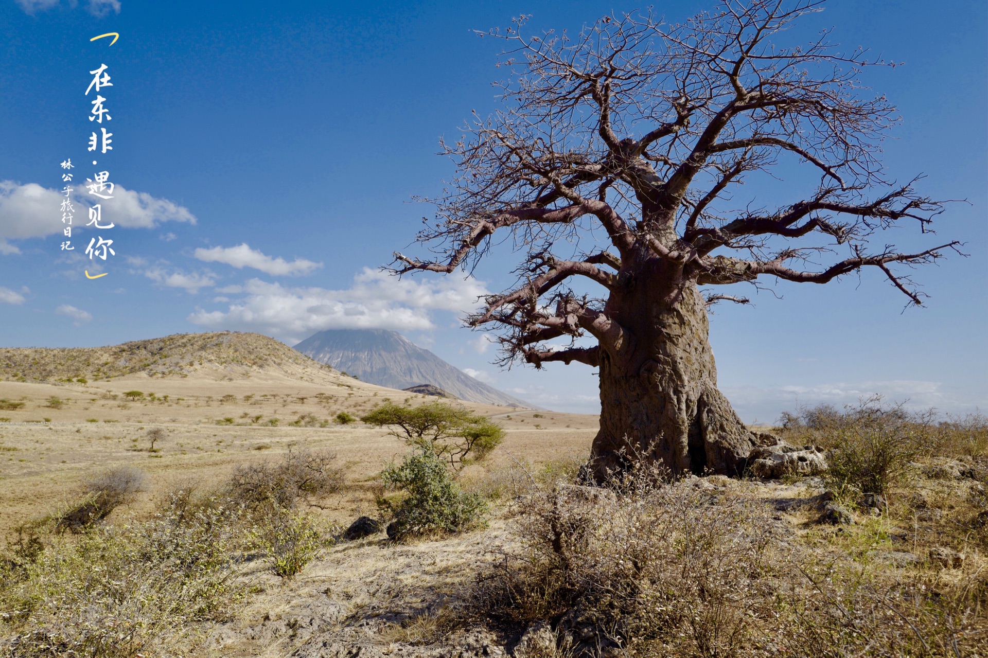
[[[387,399],[416,404],[438,398],[336,374],[311,378],[253,372],[234,380],[134,374],[88,384],[0,381],[0,405],[17,407],[0,408],[0,535],[52,512],[108,466],[136,465],[147,475],[144,492],[120,512],[126,514],[169,487],[217,483],[237,464],[277,458],[289,447],[329,449],[346,467],[347,489],[324,511],[331,521],[371,512],[369,480],[407,448],[384,429],[340,425],[334,417],[341,411],[360,416]],[[127,391],[143,398],[127,398]],[[456,403],[507,431],[490,467],[585,455],[598,429],[596,415]],[[156,452],[149,452],[152,428],[165,431]]]

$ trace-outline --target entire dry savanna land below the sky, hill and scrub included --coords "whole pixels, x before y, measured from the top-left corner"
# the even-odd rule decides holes
[[[988,655],[980,416],[793,410],[772,432],[827,470],[599,487],[594,415],[256,334],[0,350],[0,378],[0,655]]]

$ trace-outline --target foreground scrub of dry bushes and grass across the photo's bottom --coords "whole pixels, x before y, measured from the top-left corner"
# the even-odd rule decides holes
[[[340,640],[349,648],[359,627],[381,650],[398,642],[409,656],[445,655],[459,650],[450,633],[482,627],[529,658],[984,655],[984,419],[865,406],[784,419],[789,443],[827,449],[836,467],[782,482],[677,480],[641,467],[591,487],[580,484],[582,455],[535,465],[506,453],[459,470],[419,449],[377,479],[391,486],[378,493],[387,518],[401,522],[392,533],[401,543],[377,535],[334,547],[340,529],[310,511],[359,483],[344,487],[326,452],[291,450],[218,485],[175,487],[144,516],[121,514],[142,486],[139,471],[105,471],[79,500],[116,497],[117,512],[67,534],[52,532],[66,518],[54,515],[8,542],[0,656],[200,655],[197,643],[215,629],[263,623],[241,617],[256,597],[284,606],[299,596],[288,587],[256,594],[258,574],[282,582],[301,573],[302,587],[313,561],[323,580],[314,598],[291,605],[317,610],[343,597],[332,601],[346,614],[318,632],[350,638]],[[825,503],[855,523],[821,523]],[[488,554],[462,552],[467,539],[449,532],[468,533]],[[423,554],[410,567],[422,573],[398,578],[402,589],[422,583],[421,597],[410,595],[421,603],[388,625],[373,616],[400,611],[397,594],[372,579],[399,548]],[[352,608],[336,559],[363,565]],[[443,586],[424,575],[437,560],[455,575]],[[278,655],[296,647],[289,630],[272,640]]]

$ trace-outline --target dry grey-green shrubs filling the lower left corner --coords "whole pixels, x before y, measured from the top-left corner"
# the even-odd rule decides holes
[[[177,487],[150,518],[114,524],[99,522],[141,486],[142,473],[117,468],[86,482],[67,511],[8,541],[0,560],[0,656],[191,650],[202,624],[228,618],[248,593],[238,565],[251,551],[289,578],[331,543],[336,529],[301,504],[339,490],[333,458],[291,451],[278,462],[241,467],[219,487]]]

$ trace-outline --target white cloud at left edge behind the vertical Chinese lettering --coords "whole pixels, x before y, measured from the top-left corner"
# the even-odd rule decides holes
[[[96,198],[89,197],[82,183],[72,187],[73,233],[84,232],[89,221],[89,207]],[[188,208],[119,185],[114,189],[114,199],[96,201],[102,203],[103,223],[111,221],[124,228],[153,228],[164,221],[196,223],[196,217]],[[59,210],[61,203],[62,193],[57,190],[37,183],[20,185],[14,181],[0,181],[0,254],[20,253],[20,249],[8,240],[60,234],[65,226]]]

